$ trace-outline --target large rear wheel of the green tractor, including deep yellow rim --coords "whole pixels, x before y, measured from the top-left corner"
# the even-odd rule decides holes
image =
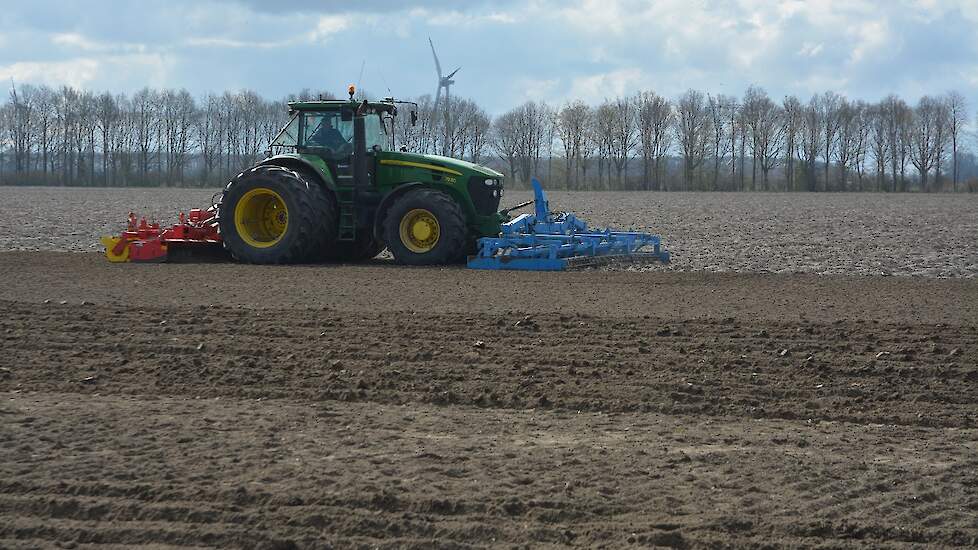
[[[336,240],[332,196],[280,166],[258,166],[232,180],[219,219],[225,246],[243,262],[312,262]]]

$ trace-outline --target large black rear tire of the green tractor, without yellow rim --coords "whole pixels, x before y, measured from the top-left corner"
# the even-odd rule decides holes
[[[235,209],[257,188],[274,191],[285,203],[288,225],[277,242],[258,247],[238,233]],[[238,174],[224,190],[219,214],[224,246],[239,261],[253,264],[294,264],[319,261],[336,240],[336,202],[317,182],[281,166],[256,166]]]

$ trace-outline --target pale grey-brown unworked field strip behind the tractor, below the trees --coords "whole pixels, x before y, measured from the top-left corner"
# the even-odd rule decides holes
[[[215,191],[3,188],[0,250],[98,250],[99,237],[118,233],[130,210],[170,224],[181,209],[209,206]],[[553,209],[592,226],[660,234],[673,262],[655,271],[978,276],[978,194],[549,196]],[[503,204],[528,198],[507,191]]]

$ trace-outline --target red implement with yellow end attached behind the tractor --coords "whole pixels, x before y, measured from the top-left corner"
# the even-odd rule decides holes
[[[146,218],[136,221],[129,213],[128,227],[118,237],[102,237],[105,256],[110,262],[165,262],[173,259],[177,250],[190,255],[196,252],[222,250],[218,231],[217,208],[194,208],[189,216],[180,213],[180,222],[167,229],[158,223],[146,223]]]

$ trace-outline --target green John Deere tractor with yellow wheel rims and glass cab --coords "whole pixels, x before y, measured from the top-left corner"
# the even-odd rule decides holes
[[[352,87],[349,100],[289,103],[268,158],[224,190],[218,219],[231,254],[260,264],[359,261],[386,247],[401,264],[446,264],[495,236],[502,174],[395,151],[398,105],[354,101]]]

